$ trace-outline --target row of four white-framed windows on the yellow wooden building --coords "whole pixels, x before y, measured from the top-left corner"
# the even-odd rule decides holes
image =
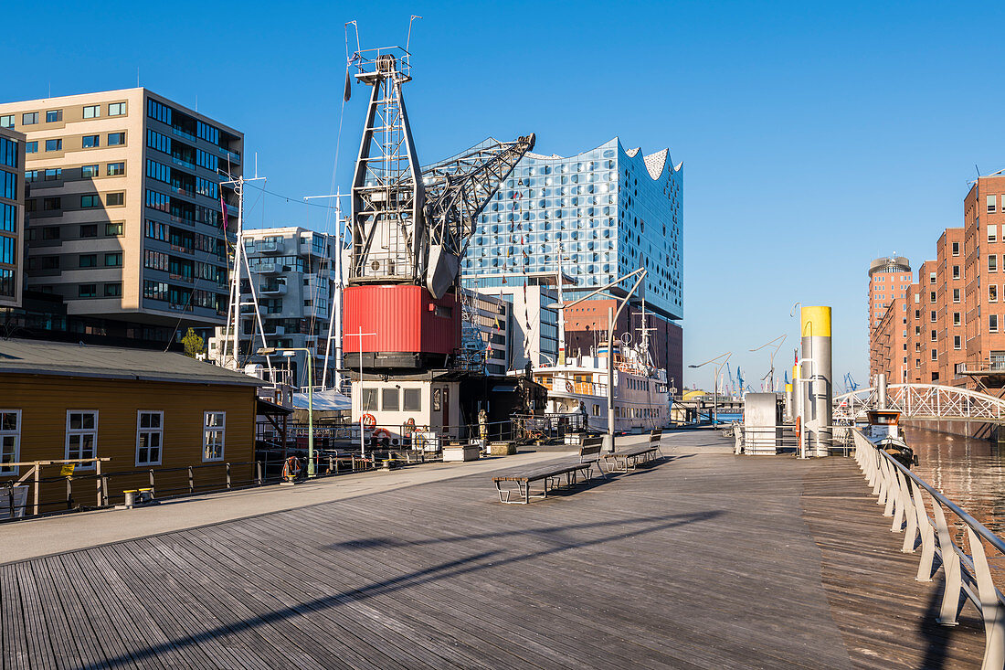
[[[96,409],[66,411],[64,456],[67,460],[97,458]],[[222,461],[226,434],[225,411],[204,411],[202,421],[202,460]],[[136,415],[136,465],[161,465],[164,456],[164,410],[141,409]],[[0,475],[17,475],[18,469],[5,464],[18,463],[21,451],[21,410],[0,409]],[[76,464],[74,471],[93,470],[94,463]]]

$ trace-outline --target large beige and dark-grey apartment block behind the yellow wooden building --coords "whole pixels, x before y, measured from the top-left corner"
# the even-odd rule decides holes
[[[0,126],[25,136],[26,290],[117,338],[222,323],[241,133],[147,89],[3,104]]]

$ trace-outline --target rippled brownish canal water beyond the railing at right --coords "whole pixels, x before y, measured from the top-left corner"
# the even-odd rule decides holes
[[[996,442],[901,428],[904,441],[918,455],[919,463],[912,470],[990,530],[1005,536],[1005,448]]]

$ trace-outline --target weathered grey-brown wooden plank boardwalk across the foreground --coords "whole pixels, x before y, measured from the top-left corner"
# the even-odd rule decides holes
[[[3,564],[0,662],[979,665],[972,612],[932,623],[938,582],[914,581],[853,462],[726,446],[672,435],[652,468],[527,506],[477,474]]]

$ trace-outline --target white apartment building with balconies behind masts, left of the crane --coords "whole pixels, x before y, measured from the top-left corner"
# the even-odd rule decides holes
[[[335,306],[335,235],[299,226],[244,230],[244,250],[251,277],[241,280],[241,323],[238,329],[238,367],[265,364],[256,352],[262,346],[306,348],[314,357],[311,374],[316,386],[325,380],[333,385],[336,350],[329,351],[328,372],[325,353],[329,323]],[[258,300],[255,316],[252,289]],[[224,297],[224,309],[226,309]],[[259,319],[261,327],[259,328]],[[232,332],[232,331],[231,331]],[[227,364],[232,346],[224,346],[224,328],[217,327],[209,340],[209,358]],[[273,366],[288,369],[291,382],[308,385],[308,353],[272,356]]]

